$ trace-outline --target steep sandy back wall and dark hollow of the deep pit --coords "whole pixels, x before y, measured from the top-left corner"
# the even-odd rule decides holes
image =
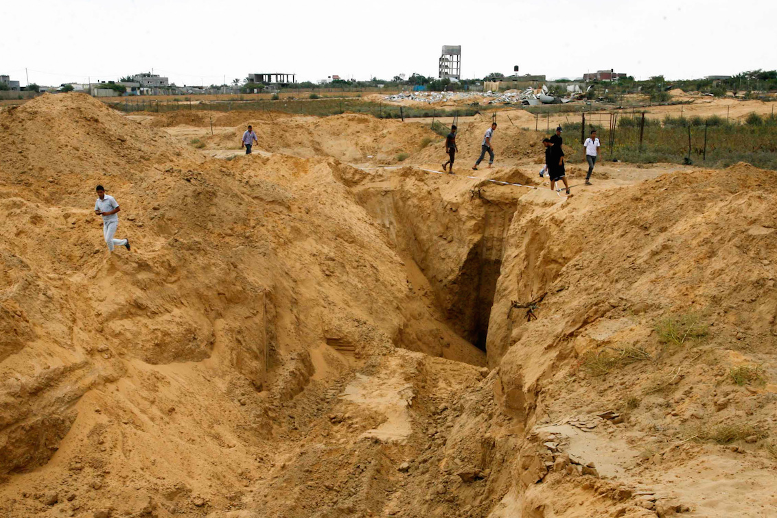
[[[448,192],[407,169],[358,191],[361,204],[388,231],[399,254],[413,261],[434,290],[448,324],[486,351],[491,306],[514,201],[491,202]]]

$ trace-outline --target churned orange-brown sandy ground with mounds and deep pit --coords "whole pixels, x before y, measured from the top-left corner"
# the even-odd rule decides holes
[[[773,172],[196,114],[0,112],[0,516],[777,515]]]

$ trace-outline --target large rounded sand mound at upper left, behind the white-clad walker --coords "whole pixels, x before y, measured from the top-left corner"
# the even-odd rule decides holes
[[[0,128],[0,188],[32,188],[13,191],[25,199],[75,202],[105,178],[126,184],[154,164],[199,160],[166,133],[85,94],[42,95],[0,113]]]

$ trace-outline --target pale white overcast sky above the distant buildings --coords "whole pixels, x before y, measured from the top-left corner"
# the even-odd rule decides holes
[[[298,81],[437,74],[442,45],[462,75],[699,78],[777,68],[775,0],[508,2],[0,2],[0,74],[26,84],[116,80],[150,71],[177,85],[252,72]]]

